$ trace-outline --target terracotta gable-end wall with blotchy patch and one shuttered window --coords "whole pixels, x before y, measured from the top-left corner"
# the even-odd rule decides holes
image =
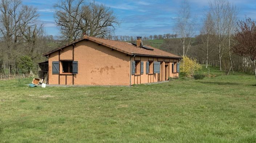
[[[74,52],[74,57],[73,57]],[[78,61],[78,74],[62,73],[60,84],[129,85],[130,57],[97,43],[83,40],[60,51],[61,60]],[[52,74],[52,61],[58,61],[58,51],[49,57],[49,84],[58,84],[58,74]]]

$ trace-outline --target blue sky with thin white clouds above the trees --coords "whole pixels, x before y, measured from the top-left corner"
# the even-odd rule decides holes
[[[86,1],[86,0],[85,0]],[[88,2],[90,0],[87,0]],[[44,23],[46,34],[59,35],[53,18],[52,6],[58,0],[23,0],[23,4],[33,5],[38,9],[40,20]],[[174,33],[175,17],[182,0],[96,0],[96,3],[109,6],[121,25],[115,35],[145,36]],[[196,17],[196,26],[200,27],[208,0],[188,0],[191,15]],[[245,15],[256,20],[255,0],[230,0],[239,9],[239,19]]]

